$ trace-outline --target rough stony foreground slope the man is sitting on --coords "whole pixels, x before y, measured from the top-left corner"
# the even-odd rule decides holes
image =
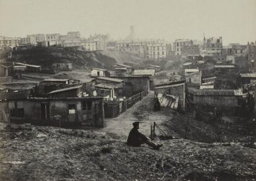
[[[256,152],[184,139],[160,150],[111,134],[0,124],[0,180],[255,180]]]

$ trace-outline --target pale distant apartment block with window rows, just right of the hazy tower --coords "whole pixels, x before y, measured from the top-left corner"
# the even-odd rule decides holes
[[[147,58],[160,59],[166,58],[166,44],[147,44]]]

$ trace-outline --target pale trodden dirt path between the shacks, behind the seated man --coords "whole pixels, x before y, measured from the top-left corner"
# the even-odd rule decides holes
[[[154,112],[153,98],[154,92],[150,91],[150,93],[148,93],[148,95],[143,98],[142,101],[139,101],[118,117],[105,119],[105,128],[101,128],[98,131],[115,133],[120,137],[125,138],[132,128],[132,123],[139,121],[141,123],[139,131],[145,135],[150,135],[150,125],[152,125],[153,122],[156,122],[156,124],[162,124],[163,122],[170,120],[173,116],[171,110],[168,112]]]

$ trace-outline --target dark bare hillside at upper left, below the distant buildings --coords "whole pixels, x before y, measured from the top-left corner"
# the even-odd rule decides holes
[[[54,62],[72,62],[75,69],[92,67],[111,68],[116,64],[113,57],[98,51],[80,51],[74,48],[36,47],[33,49],[14,51],[13,61],[41,65],[49,69]]]

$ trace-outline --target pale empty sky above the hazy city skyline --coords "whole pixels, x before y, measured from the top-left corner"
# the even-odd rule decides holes
[[[126,38],[256,40],[256,0],[0,0],[0,35],[80,31]]]

